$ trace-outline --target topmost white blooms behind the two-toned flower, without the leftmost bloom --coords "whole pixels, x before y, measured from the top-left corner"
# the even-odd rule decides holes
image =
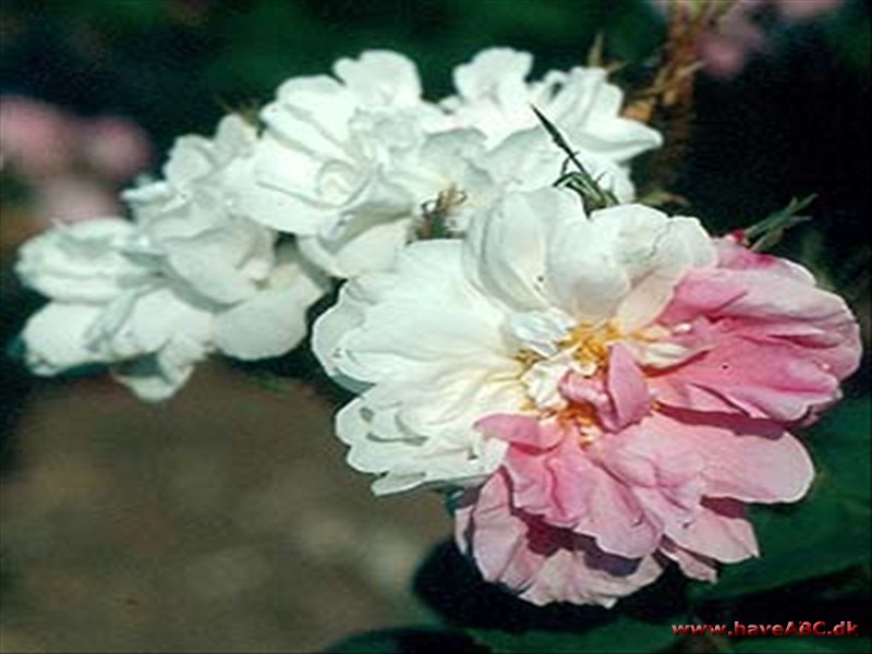
[[[451,226],[509,191],[552,184],[565,155],[531,107],[566,133],[590,172],[619,197],[633,194],[629,160],[661,144],[620,117],[621,92],[601,69],[526,81],[532,57],[479,53],[455,71],[458,94],[421,97],[414,65],[385,51],[337,62],[336,77],[286,82],[266,124],[254,184],[241,201],[256,220],[298,235],[301,251],[336,277],[383,270],[412,239],[421,207],[457,196]]]

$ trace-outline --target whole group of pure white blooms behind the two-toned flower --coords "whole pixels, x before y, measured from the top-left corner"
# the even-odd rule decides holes
[[[605,71],[529,82],[531,69],[530,55],[483,51],[433,102],[410,60],[367,51],[284,82],[261,128],[230,116],[213,140],[180,138],[162,180],[124,193],[132,220],[60,225],[22,249],[20,277],[50,299],[23,332],[29,365],[106,364],[159,400],[211,352],[289,351],[330,277],[389,270],[429,221],[461,235],[507,193],[555,182],[565,154],[533,106],[631,199],[629,162],[659,134],[620,116]]]

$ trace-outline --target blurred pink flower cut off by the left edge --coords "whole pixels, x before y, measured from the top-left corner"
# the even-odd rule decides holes
[[[0,97],[0,155],[3,166],[45,178],[74,158],[75,121],[58,108],[19,96]]]

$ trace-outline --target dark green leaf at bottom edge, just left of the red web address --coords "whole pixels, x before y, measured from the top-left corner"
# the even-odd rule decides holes
[[[492,652],[516,654],[522,652],[554,654],[578,654],[602,652],[603,654],[638,654],[661,652],[673,644],[676,637],[669,625],[651,625],[620,617],[603,627],[584,633],[560,631],[528,631],[508,633],[494,630],[470,630],[470,635],[487,645]]]

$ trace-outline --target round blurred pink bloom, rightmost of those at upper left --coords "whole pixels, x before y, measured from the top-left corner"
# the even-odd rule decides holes
[[[82,158],[98,173],[123,182],[152,160],[152,144],[134,122],[106,116],[85,122],[78,133]]]

